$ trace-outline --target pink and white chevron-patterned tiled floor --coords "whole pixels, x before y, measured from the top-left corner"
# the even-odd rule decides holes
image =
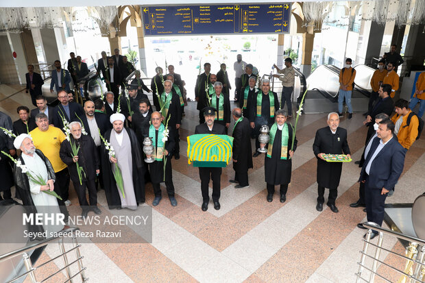
[[[0,99],[5,99],[0,102],[0,110],[13,120],[18,119],[16,107],[20,103],[30,105],[25,93],[6,98],[16,90],[19,86],[0,85]],[[326,125],[326,114],[300,117],[292,182],[284,204],[280,204],[278,193],[273,202],[265,200],[264,156],[259,156],[254,158],[254,169],[249,172],[250,188],[235,189],[228,182],[234,176],[231,164],[223,169],[221,210],[214,210],[210,204],[207,212],[200,209],[197,169],[187,164],[186,157],[186,136],[193,134],[197,117],[195,104],[190,104],[182,122],[181,158],[172,161],[178,206],[171,207],[164,198],[154,208],[152,243],[82,244],[90,282],[354,282],[364,233],[356,224],[365,220],[361,208],[349,207],[358,198],[356,181],[360,169],[354,162],[343,165],[337,199],[340,212],[335,214],[326,206],[323,212],[315,210],[316,160],[312,145],[315,131]],[[363,116],[356,113],[353,119],[341,119],[340,123],[348,129],[354,160],[363,151],[366,129],[362,121]],[[404,175],[387,202],[412,202],[423,193],[424,148],[422,138],[409,150]],[[77,206],[72,188],[70,193],[73,206]],[[149,185],[147,205],[151,206],[153,198]],[[104,213],[119,213],[106,211],[103,191],[98,201]],[[401,249],[395,240],[387,241],[386,247]],[[56,254],[58,247],[50,245],[42,261]],[[389,256],[387,260],[393,258]],[[54,263],[63,266],[62,260]],[[38,278],[45,277],[47,269],[53,267],[40,269]],[[64,278],[63,274],[60,276]],[[390,276],[391,280],[398,280],[396,275]]]

